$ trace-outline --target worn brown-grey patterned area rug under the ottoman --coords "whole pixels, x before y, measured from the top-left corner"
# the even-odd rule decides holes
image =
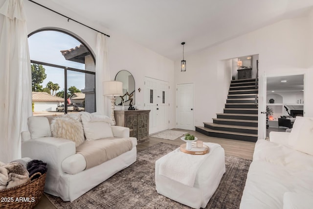
[[[156,192],[155,162],[176,149],[158,143],[138,151],[137,161],[73,202],[45,194],[58,209],[190,209]],[[225,157],[226,173],[206,209],[238,209],[251,161]]]

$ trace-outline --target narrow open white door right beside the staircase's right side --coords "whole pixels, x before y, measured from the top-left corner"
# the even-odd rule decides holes
[[[259,93],[258,93],[258,139],[266,138],[266,89],[267,77],[263,72],[259,76]]]

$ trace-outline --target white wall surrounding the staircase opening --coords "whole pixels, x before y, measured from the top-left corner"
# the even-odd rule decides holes
[[[186,72],[180,72],[180,60],[175,62],[175,82],[195,83],[195,125],[212,121],[225,101],[216,99],[216,92],[224,89],[218,79],[217,64],[221,60],[259,54],[260,74],[284,75],[306,73],[306,92],[313,89],[313,14],[310,17],[285,20],[198,53],[186,54]],[[310,58],[310,59],[309,59]],[[311,66],[312,69],[309,69]],[[313,106],[313,95],[306,93],[307,107]],[[313,116],[307,108],[306,116]]]

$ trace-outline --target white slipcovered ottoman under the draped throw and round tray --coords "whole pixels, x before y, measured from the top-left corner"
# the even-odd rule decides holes
[[[213,145],[213,143],[203,144],[209,147]],[[173,152],[177,152],[178,150],[179,148]],[[160,175],[160,165],[161,163],[166,163],[169,154],[158,159],[156,161],[157,193],[191,208],[205,208],[225,173],[225,154],[224,149],[220,145],[213,151],[210,150],[206,155],[208,155],[208,157],[201,164],[199,170],[195,171],[197,175],[194,186],[192,187]]]

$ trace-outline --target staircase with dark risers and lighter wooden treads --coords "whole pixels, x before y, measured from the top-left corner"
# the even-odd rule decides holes
[[[258,139],[258,107],[255,103],[258,89],[255,79],[232,80],[223,114],[217,114],[213,123],[203,122],[196,131],[209,137],[256,142]]]

